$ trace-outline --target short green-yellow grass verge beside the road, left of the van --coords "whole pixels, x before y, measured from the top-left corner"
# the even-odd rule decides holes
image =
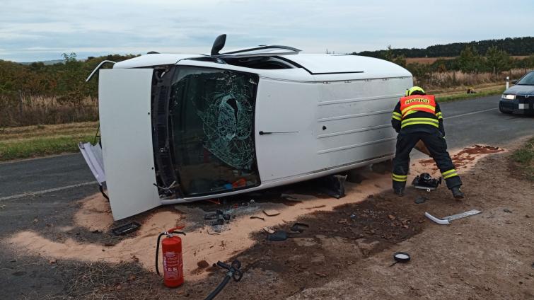
[[[78,142],[92,142],[97,122],[0,129],[0,161],[73,153]]]

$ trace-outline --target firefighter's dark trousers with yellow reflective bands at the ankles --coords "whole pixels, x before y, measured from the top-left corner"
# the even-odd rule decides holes
[[[447,152],[447,143],[441,137],[441,134],[429,134],[426,132],[401,132],[397,136],[397,151],[395,158],[393,158],[393,189],[405,188],[408,171],[410,168],[410,151],[415,144],[423,141],[427,149],[429,149],[430,156],[436,161],[441,176],[447,183],[447,188],[451,189],[462,185],[462,180],[456,172],[451,156]]]

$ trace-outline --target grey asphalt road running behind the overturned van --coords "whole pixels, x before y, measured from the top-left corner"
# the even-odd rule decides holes
[[[441,104],[449,149],[472,144],[506,146],[534,134],[534,117],[499,113],[499,96]],[[419,156],[412,151],[412,156]],[[98,192],[91,171],[81,154],[52,156],[0,163],[0,240],[21,230],[52,234],[50,226],[71,226],[77,200]],[[82,233],[76,233],[76,235]],[[35,263],[13,259],[0,246],[0,290],[9,299],[60,293],[58,272],[47,261]],[[66,267],[64,272],[69,272]],[[21,287],[27,287],[23,292]],[[22,291],[22,292],[21,292]],[[0,296],[1,298],[1,296]]]

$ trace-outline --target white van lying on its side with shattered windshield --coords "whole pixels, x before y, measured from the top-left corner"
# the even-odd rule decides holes
[[[80,149],[116,220],[393,157],[406,69],[284,46],[219,53],[223,45],[100,70],[101,143]]]

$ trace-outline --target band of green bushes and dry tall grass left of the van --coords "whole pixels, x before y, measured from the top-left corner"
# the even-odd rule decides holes
[[[119,62],[132,57],[108,55],[81,61],[71,53],[63,54],[63,62],[57,64],[0,60],[0,130],[98,120],[98,79],[86,83],[86,77],[105,59]]]

